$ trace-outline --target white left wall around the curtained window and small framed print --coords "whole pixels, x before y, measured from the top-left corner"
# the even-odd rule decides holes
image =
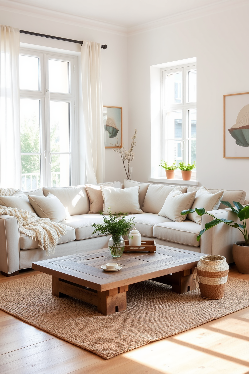
[[[17,27],[20,30],[33,31],[47,35],[60,36],[74,40],[92,40],[107,44],[102,50],[102,88],[103,104],[123,107],[123,141],[127,143],[127,37],[90,28],[77,24],[66,24],[17,12],[1,10],[0,24]],[[41,37],[20,34],[20,41],[31,44],[45,45],[60,49],[80,51],[80,45],[44,39]],[[123,178],[122,161],[112,149],[105,150],[105,180],[114,181]]]

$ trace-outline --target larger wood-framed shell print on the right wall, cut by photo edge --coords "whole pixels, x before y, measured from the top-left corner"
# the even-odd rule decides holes
[[[249,159],[249,146],[238,144],[228,129],[240,122],[242,110],[248,105],[249,92],[230,93],[223,96],[223,158]],[[242,124],[243,125],[243,124]],[[239,126],[239,125],[238,125]],[[249,132],[249,129],[248,129]]]

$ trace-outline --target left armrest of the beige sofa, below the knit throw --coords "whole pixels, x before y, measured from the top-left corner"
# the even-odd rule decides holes
[[[11,274],[20,269],[19,225],[16,217],[0,215],[0,270]]]

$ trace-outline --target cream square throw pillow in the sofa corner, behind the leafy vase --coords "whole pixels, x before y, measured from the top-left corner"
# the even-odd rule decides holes
[[[109,214],[109,208],[112,214],[115,213],[143,213],[139,206],[139,186],[129,188],[114,188],[100,186],[104,199],[103,214]]]

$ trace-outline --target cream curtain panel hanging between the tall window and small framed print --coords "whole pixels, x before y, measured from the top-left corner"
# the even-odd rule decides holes
[[[81,46],[81,79],[87,183],[102,183],[105,176],[105,143],[101,84],[101,44],[84,40]]]

